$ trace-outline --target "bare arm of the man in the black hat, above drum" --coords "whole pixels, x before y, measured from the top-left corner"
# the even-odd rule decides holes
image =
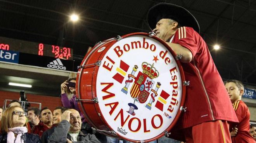
[[[173,49],[173,51],[177,55],[180,55],[180,54],[182,55],[182,58],[180,59],[181,62],[188,63],[192,61],[193,55],[189,49],[181,46],[180,44],[175,44],[170,42],[166,42],[166,43],[171,47],[171,49]]]

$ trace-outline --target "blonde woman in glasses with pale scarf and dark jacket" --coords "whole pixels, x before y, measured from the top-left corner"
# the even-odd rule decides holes
[[[28,133],[26,113],[19,106],[7,108],[1,121],[0,143],[41,143],[38,135]]]

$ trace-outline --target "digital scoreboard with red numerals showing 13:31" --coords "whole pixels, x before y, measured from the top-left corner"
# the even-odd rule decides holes
[[[73,60],[73,49],[24,40],[0,37],[0,49]]]

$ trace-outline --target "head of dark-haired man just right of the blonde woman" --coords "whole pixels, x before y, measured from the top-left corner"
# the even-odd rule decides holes
[[[37,126],[40,123],[40,109],[36,107],[32,107],[28,109],[28,123],[30,127],[32,128],[31,130],[34,130],[34,126]]]

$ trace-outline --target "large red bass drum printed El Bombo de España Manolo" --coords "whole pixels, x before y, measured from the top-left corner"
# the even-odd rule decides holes
[[[83,59],[76,93],[94,130],[133,142],[168,136],[182,112],[184,74],[158,37],[133,33],[96,44]]]

